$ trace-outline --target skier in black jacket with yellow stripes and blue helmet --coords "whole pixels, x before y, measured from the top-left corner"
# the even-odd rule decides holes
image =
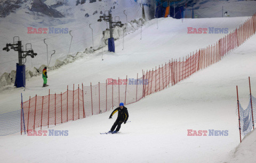
[[[117,116],[117,119],[114,123],[114,125],[111,127],[109,133],[117,133],[119,131],[119,129],[121,128],[121,125],[122,123],[126,124],[126,121],[129,117],[129,114],[128,114],[128,111],[127,111],[127,108],[124,107],[124,103],[120,103],[119,104],[119,107],[116,108],[112,113],[111,115],[109,116],[109,119],[112,118],[112,116],[118,111],[118,116]],[[117,128],[116,128],[117,126]],[[116,128],[116,131],[114,131]]]

